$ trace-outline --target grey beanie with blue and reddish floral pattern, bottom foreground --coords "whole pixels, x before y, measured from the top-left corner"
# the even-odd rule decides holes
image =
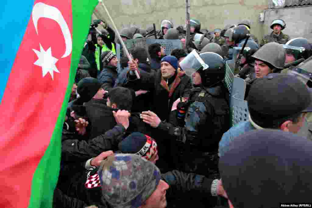
[[[115,208],[141,206],[156,190],[160,171],[152,163],[134,154],[114,154],[98,170],[102,196]]]

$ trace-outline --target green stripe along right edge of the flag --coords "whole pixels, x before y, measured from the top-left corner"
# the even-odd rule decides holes
[[[86,40],[86,36],[89,32],[91,15],[97,3],[97,0],[72,0],[73,47],[68,86],[50,144],[46,149],[44,156],[41,158],[32,178],[32,192],[28,208],[52,207],[53,191],[55,189],[60,171],[61,133],[65,113],[71,94],[72,85],[74,84],[76,69],[78,67],[81,52]]]

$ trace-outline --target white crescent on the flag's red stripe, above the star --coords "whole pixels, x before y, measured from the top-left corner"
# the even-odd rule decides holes
[[[32,21],[34,22],[37,34],[38,34],[37,23],[39,18],[41,17],[46,17],[55,20],[60,25],[66,44],[66,51],[62,56],[62,58],[69,56],[72,51],[71,31],[69,30],[68,25],[60,10],[58,10],[56,7],[49,6],[42,2],[38,2],[34,5],[32,9]]]

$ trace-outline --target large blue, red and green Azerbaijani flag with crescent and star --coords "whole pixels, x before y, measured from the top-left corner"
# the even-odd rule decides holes
[[[97,3],[1,3],[0,207],[52,207],[66,107]]]

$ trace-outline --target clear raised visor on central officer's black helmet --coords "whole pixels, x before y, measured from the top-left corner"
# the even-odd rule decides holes
[[[180,66],[185,71],[186,75],[191,76],[199,69],[207,70],[209,66],[202,60],[196,50],[188,54],[181,62]]]

